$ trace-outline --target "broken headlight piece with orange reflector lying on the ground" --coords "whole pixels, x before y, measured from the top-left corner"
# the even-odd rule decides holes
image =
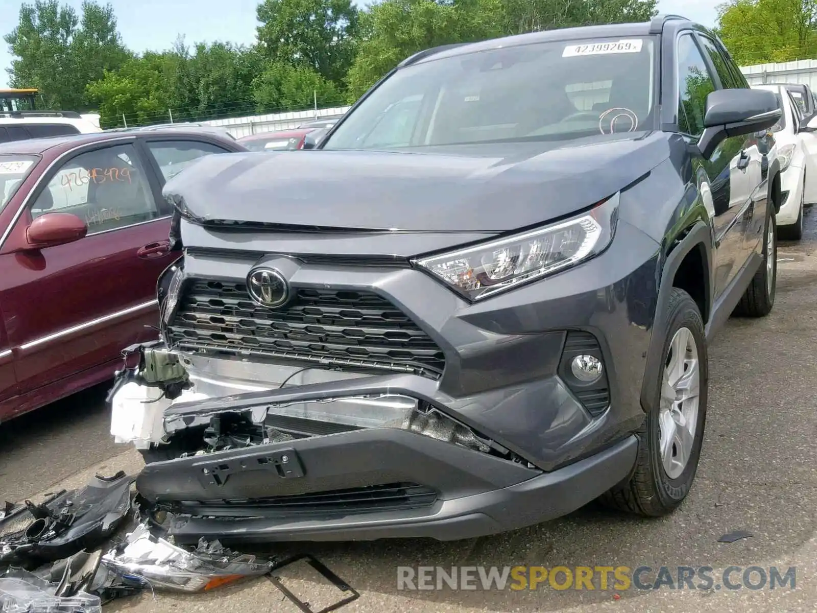
[[[138,579],[145,587],[179,592],[203,592],[246,577],[266,575],[272,562],[257,560],[224,548],[218,541],[199,542],[186,551],[150,533],[146,524],[127,535],[127,541],[102,557],[102,566],[123,579]]]

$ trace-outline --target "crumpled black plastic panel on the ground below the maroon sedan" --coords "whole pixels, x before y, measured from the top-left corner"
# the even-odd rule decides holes
[[[34,570],[47,562],[95,548],[114,533],[131,509],[132,477],[94,477],[80,490],[62,491],[45,503],[25,502],[32,521],[0,538],[0,569]]]

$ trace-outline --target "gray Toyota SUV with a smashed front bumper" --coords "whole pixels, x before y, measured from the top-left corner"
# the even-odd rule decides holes
[[[778,118],[660,16],[422,51],[311,150],[199,159],[111,395],[143,508],[180,543],[671,512],[709,339],[775,299]]]

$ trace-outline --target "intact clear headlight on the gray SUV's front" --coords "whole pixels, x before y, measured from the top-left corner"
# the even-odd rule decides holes
[[[598,255],[613,239],[617,213],[618,193],[576,217],[412,263],[474,302]]]

